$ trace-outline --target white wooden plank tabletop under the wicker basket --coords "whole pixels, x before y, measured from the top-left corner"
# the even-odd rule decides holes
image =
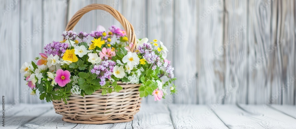
[[[282,105],[142,104],[134,120],[87,125],[62,121],[49,104],[5,105],[0,128],[296,128],[296,107]]]

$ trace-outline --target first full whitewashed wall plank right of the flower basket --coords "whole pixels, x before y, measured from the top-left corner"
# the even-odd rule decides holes
[[[178,94],[174,103],[197,103],[196,87],[196,33],[197,1],[175,1],[175,36],[173,43],[173,64]],[[184,20],[186,19],[186,20]],[[184,29],[186,28],[186,29]],[[190,99],[188,99],[190,98]]]

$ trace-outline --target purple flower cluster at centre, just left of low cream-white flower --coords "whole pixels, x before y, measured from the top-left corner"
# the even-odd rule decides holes
[[[112,60],[103,60],[100,64],[94,65],[94,68],[91,69],[91,73],[98,75],[98,78],[101,79],[100,85],[104,86],[106,84],[106,79],[111,79],[111,73],[116,63]]]

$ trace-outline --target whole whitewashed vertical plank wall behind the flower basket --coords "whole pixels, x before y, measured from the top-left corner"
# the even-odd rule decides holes
[[[138,38],[160,40],[170,50],[178,94],[143,103],[295,105],[295,1],[0,1],[0,84],[7,103],[44,103],[30,95],[19,68],[45,44],[61,40],[78,9],[98,3],[121,12]],[[74,31],[91,32],[97,25],[120,26],[96,10],[85,14]]]

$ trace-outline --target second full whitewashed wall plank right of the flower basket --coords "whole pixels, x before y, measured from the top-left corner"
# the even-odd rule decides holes
[[[225,78],[224,2],[217,0],[199,1],[197,17],[197,103],[222,102]],[[193,74],[190,76],[189,79],[194,79]],[[188,84],[189,79],[184,84]],[[183,85],[181,88],[183,88]]]

